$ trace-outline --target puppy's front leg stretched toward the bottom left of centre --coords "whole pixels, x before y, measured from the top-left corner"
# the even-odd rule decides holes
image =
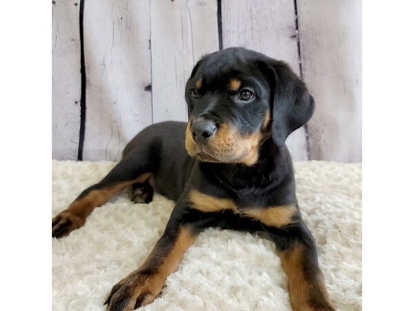
[[[172,211],[164,234],[143,265],[115,285],[105,304],[110,311],[130,311],[151,303],[167,276],[177,270],[181,258],[195,241],[197,229],[188,221],[185,207]]]

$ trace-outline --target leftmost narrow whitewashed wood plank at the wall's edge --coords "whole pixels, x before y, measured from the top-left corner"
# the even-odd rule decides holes
[[[52,158],[77,160],[81,97],[78,1],[52,6]]]

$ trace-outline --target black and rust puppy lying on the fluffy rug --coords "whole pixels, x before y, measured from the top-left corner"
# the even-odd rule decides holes
[[[124,187],[132,186],[135,202],[149,202],[155,189],[177,204],[145,263],[112,288],[108,310],[152,302],[206,227],[266,234],[288,275],[293,310],[335,310],[297,206],[285,145],[313,114],[304,83],[284,62],[228,48],[197,63],[186,102],[188,123],[162,122],[141,131],[101,182],[53,218],[52,236],[81,227]]]

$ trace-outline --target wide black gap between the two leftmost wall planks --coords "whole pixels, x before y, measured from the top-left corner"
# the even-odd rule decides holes
[[[86,68],[85,51],[83,49],[83,8],[85,0],[81,0],[79,6],[79,32],[81,43],[81,126],[79,128],[79,147],[78,160],[83,160],[83,142],[85,141],[85,121],[86,121]]]

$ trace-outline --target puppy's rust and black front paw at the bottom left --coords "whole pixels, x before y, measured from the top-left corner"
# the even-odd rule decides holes
[[[132,311],[152,303],[163,285],[164,278],[157,274],[132,272],[112,288],[103,304],[108,304],[108,311]]]

